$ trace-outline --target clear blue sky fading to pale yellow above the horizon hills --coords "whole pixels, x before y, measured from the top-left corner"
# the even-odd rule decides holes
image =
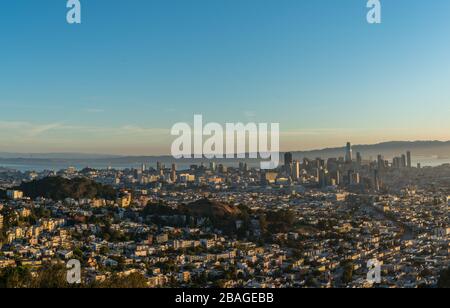
[[[0,4],[0,152],[167,154],[170,128],[280,123],[282,150],[450,140],[450,1]]]

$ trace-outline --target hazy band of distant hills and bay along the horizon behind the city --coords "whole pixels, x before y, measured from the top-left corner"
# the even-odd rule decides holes
[[[330,157],[343,157],[345,155],[345,145],[336,148],[326,148],[311,151],[294,151],[295,159],[304,157],[314,159],[321,157],[324,159]],[[371,145],[354,145],[353,152],[360,152],[364,159],[372,157],[375,159],[378,154],[383,155],[386,159],[392,159],[394,156],[404,154],[411,151],[414,157],[434,157],[441,159],[450,159],[450,141],[392,141]],[[281,153],[283,156],[284,153]],[[14,156],[15,155],[15,156]],[[282,158],[282,157],[281,157]],[[84,168],[86,166],[98,166],[99,168],[112,167],[137,167],[142,163],[148,166],[155,166],[159,161],[163,164],[170,165],[174,159],[170,155],[166,156],[115,156],[101,154],[70,154],[70,153],[50,153],[50,154],[14,154],[0,153],[0,167],[11,166],[43,166],[42,168],[57,169],[69,166],[78,166]],[[215,159],[218,164],[236,164],[240,161],[247,162],[250,166],[258,166],[258,160],[251,159]],[[189,166],[191,164],[204,163],[208,165],[210,160],[207,159],[180,159],[177,164]],[[41,169],[42,169],[41,168]]]

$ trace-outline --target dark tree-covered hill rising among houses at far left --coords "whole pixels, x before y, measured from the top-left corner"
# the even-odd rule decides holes
[[[22,183],[17,189],[30,198],[45,197],[53,200],[105,198],[114,200],[116,191],[111,186],[102,185],[85,178],[73,180],[61,177],[47,177],[42,180]]]

